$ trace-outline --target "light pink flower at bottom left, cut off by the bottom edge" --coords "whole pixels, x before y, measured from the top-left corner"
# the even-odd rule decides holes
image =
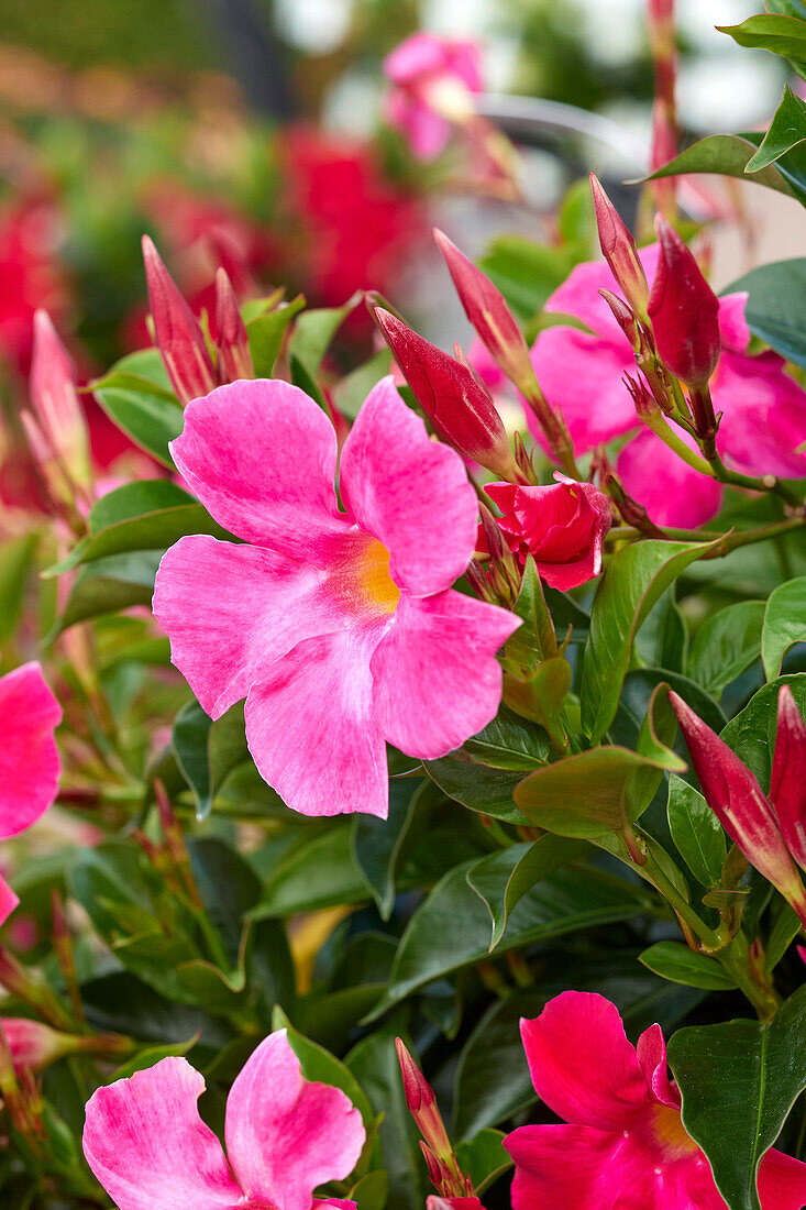
[[[162,1059],[93,1093],[84,1153],[120,1210],[355,1210],[313,1191],[356,1166],[361,1114],[340,1089],[305,1079],[284,1030],[260,1043],[232,1084],[226,1157],[198,1116],[203,1091],[185,1059]]]

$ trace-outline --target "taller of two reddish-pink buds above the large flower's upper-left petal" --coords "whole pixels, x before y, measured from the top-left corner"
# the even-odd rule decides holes
[[[215,384],[202,330],[151,240],[143,236],[143,260],[155,344],[182,403],[208,394]]]

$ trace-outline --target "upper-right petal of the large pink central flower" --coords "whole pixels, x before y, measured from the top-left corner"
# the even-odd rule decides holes
[[[450,588],[470,563],[478,505],[462,460],[432,442],[391,376],[367,396],[341,454],[341,499],[390,552],[415,597]]]

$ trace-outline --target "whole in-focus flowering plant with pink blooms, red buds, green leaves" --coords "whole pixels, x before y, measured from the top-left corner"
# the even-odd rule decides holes
[[[727,33],[802,68],[806,10],[768,7]],[[747,168],[796,219],[806,110],[677,156],[649,21],[635,232],[595,178],[570,240],[437,231],[467,355],[341,296],[328,189],[334,305],[259,296],[224,224],[203,294],[144,240],[150,345],[87,387],[30,315],[4,1206],[806,1206],[802,263],[716,294],[678,204]],[[415,157],[523,196],[474,47],[385,71]]]

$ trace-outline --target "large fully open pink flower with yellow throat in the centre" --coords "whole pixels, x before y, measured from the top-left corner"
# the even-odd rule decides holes
[[[461,459],[428,439],[391,378],[341,454],[287,382],[219,387],[172,443],[185,482],[244,544],[182,538],[154,611],[202,708],[246,697],[263,777],[304,814],[386,816],[386,742],[436,757],[494,718],[495,652],[518,620],[451,589],[474,547]]]

